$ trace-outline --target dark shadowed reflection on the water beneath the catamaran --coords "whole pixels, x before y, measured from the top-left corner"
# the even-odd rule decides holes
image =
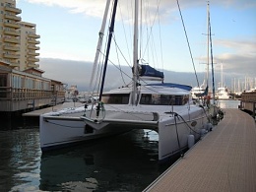
[[[158,143],[143,130],[47,153],[41,157],[40,190],[142,191],[160,175]]]

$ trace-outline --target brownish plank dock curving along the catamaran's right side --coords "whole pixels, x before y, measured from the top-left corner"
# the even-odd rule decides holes
[[[255,120],[238,109],[177,160],[145,191],[256,192]]]

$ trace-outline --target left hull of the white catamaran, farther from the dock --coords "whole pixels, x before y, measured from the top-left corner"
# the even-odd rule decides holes
[[[53,116],[44,114],[40,116],[41,151],[71,146],[78,142],[95,140],[131,130],[114,130],[107,127],[100,130],[93,130],[80,118],[83,113],[77,113],[76,115],[73,113],[72,115]]]

